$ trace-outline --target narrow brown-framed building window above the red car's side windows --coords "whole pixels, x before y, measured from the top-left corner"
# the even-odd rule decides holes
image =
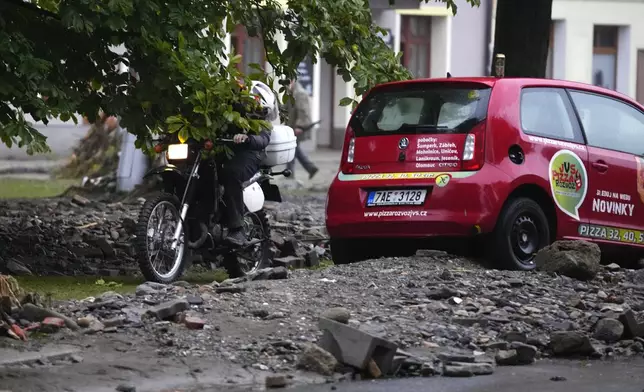
[[[593,32],[593,84],[615,90],[617,83],[616,26],[595,26]]]

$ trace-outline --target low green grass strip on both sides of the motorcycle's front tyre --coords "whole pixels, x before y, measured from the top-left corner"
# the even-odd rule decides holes
[[[83,299],[95,297],[106,291],[120,294],[134,293],[136,286],[144,282],[136,276],[16,276],[20,288],[27,293],[36,292],[56,300]],[[189,272],[184,276],[194,284],[208,284],[214,280],[222,282],[228,278],[225,271]]]

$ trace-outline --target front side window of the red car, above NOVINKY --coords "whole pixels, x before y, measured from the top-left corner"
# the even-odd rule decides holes
[[[588,145],[625,153],[644,154],[644,114],[616,99],[571,92]]]

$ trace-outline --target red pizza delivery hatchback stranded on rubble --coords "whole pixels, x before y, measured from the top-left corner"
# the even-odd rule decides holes
[[[500,267],[530,270],[556,239],[643,247],[643,154],[644,107],[615,91],[520,78],[377,86],[329,188],[333,259],[485,236]]]

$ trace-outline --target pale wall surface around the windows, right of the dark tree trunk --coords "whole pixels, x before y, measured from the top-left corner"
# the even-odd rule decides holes
[[[552,19],[565,23],[564,70],[555,64],[556,77],[592,83],[594,25],[612,25],[620,29],[618,45],[617,90],[635,96],[637,49],[644,48],[644,1],[642,0],[555,0]],[[556,61],[556,60],[555,60]]]

